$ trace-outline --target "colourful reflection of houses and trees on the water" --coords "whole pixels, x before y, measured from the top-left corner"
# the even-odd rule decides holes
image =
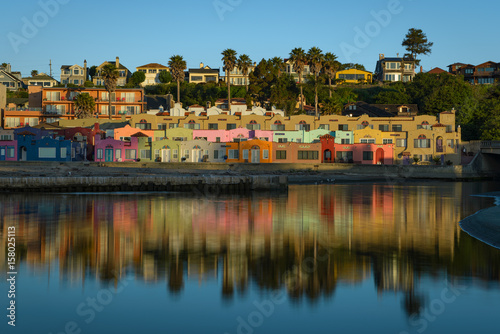
[[[460,232],[488,206],[484,183],[294,186],[287,195],[1,195],[3,239],[16,226],[18,262],[62,282],[116,285],[126,271],[179,293],[186,280],[220,280],[221,296],[251,284],[317,301],[340,284],[372,280],[400,292],[408,315],[422,276],[497,285],[500,252]],[[2,248],[0,252],[5,252]],[[6,256],[0,254],[0,272]]]

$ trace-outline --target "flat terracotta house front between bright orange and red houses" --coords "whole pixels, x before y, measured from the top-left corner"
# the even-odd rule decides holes
[[[321,163],[321,143],[274,143],[274,163]]]

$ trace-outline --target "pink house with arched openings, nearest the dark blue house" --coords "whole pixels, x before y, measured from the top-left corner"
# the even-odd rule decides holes
[[[130,140],[116,140],[113,138],[100,139],[96,136],[94,161],[121,162],[136,161],[138,149],[138,138],[130,137]]]

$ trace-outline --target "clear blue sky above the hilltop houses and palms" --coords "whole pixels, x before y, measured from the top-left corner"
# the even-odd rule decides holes
[[[134,72],[167,65],[182,55],[221,68],[226,48],[254,62],[287,58],[296,47],[317,46],[342,63],[375,70],[379,54],[402,56],[410,28],[434,43],[421,56],[424,71],[455,63],[500,61],[500,4],[476,0],[23,0],[2,3],[0,63],[29,76],[60,79],[62,65],[100,65],[120,57]]]

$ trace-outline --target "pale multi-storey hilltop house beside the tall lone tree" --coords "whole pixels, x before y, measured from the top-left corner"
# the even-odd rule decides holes
[[[384,54],[379,55],[379,60],[375,66],[373,78],[386,82],[409,82],[415,77],[415,61],[392,57],[386,58]]]

